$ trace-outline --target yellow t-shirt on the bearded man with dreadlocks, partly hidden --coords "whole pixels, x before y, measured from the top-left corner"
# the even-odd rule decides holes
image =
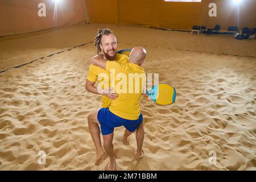
[[[127,64],[128,63],[128,57],[126,55],[121,55],[117,54],[117,59],[115,60],[120,64]],[[113,62],[115,62],[113,61]],[[111,61],[110,61],[111,62]],[[101,73],[106,73],[109,76],[108,80],[105,80],[104,78],[99,77]],[[106,84],[109,85],[110,87],[110,73],[107,72],[105,69],[102,69],[100,67],[97,67],[96,65],[91,64],[89,67],[88,75],[87,75],[87,80],[96,82],[105,82]],[[102,104],[101,107],[109,107],[111,104],[111,101],[108,97],[102,96]]]

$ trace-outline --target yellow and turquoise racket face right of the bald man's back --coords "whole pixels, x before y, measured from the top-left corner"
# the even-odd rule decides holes
[[[176,90],[169,84],[154,85],[147,94],[159,105],[170,105],[175,102]]]

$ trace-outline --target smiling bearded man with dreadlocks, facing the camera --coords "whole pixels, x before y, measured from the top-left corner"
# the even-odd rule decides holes
[[[101,51],[104,53],[104,59],[109,61],[117,61],[119,64],[127,64],[128,57],[126,55],[121,55],[117,53],[117,39],[115,38],[113,32],[109,29],[99,29],[98,35],[95,38],[95,44],[97,48],[97,54]],[[105,73],[110,77],[110,73],[105,69],[97,67],[96,65],[90,65],[89,72],[85,84],[85,89],[91,93],[101,94],[102,95],[102,105],[101,107],[110,107],[111,101],[115,100],[118,97],[118,94],[112,92],[98,92],[97,88],[94,86],[95,82],[98,80],[99,82],[107,82],[107,85],[110,85],[110,79],[108,80],[100,80],[98,77],[101,73]],[[104,84],[105,85],[105,84]],[[110,87],[110,86],[109,86]],[[106,88],[105,88],[106,89]],[[95,113],[95,112],[94,112]],[[93,143],[96,146],[97,157],[95,165],[98,166],[103,156],[105,155],[104,150],[101,146],[101,138],[100,138],[100,127],[99,123],[93,119],[93,114],[91,113],[88,117],[88,125],[90,130],[90,135],[92,136]],[[127,135],[124,134],[123,141],[125,144],[127,143]]]

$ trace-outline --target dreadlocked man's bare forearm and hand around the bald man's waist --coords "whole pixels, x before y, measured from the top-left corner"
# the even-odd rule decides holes
[[[94,84],[95,84],[95,82],[86,80],[85,89],[86,89],[88,92],[91,92],[91,93],[104,95],[104,96],[110,98],[111,100],[115,100],[115,98],[118,97],[118,94],[112,93],[112,92],[111,92],[111,89],[109,89],[109,90],[98,90],[98,89],[94,86]]]

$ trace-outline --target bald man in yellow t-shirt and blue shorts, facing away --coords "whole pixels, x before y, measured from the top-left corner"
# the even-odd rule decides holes
[[[98,55],[91,59],[93,65],[106,69],[110,74],[114,71],[116,80],[121,80],[120,78],[122,78],[114,87],[118,97],[112,101],[110,107],[101,108],[92,115],[94,122],[100,124],[104,148],[110,158],[107,170],[116,169],[112,143],[115,127],[124,126],[126,128],[124,134],[126,141],[123,141],[124,143],[127,142],[127,137],[136,130],[137,158],[141,159],[143,157],[144,130],[140,101],[143,86],[146,82],[146,74],[141,67],[145,59],[146,50],[142,47],[135,47],[131,50],[129,63],[127,64],[107,61],[103,59],[103,55]],[[139,80],[134,82],[134,78]]]

